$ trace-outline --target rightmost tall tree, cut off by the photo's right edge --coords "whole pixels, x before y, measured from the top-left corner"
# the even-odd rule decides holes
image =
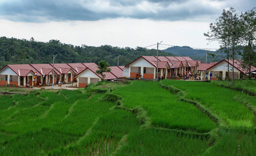
[[[242,66],[249,71],[251,79],[251,66],[256,59],[255,42],[256,42],[256,8],[246,11],[240,15],[242,34],[243,34],[243,54]]]

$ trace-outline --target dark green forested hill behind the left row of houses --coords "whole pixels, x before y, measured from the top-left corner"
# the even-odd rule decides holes
[[[57,55],[55,63],[81,63],[106,60],[111,66],[127,65],[134,59],[144,55],[156,55],[156,49],[137,47],[120,48],[108,45],[93,46],[73,46],[72,44],[61,43],[58,40],[49,42],[37,42],[33,38],[30,40],[0,37],[0,67],[6,64],[24,63],[52,63],[52,56]],[[159,51],[159,56],[173,56],[172,53]]]

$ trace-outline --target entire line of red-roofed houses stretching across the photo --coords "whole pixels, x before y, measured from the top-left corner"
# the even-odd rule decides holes
[[[158,60],[157,60],[158,59]],[[157,70],[158,63],[158,72]],[[228,70],[229,63],[229,70]],[[120,77],[132,79],[157,79],[157,77],[183,77],[190,72],[197,74],[201,80],[206,79],[206,74],[212,73],[212,79],[226,79],[228,72],[232,77],[232,60],[222,60],[220,62],[201,63],[192,60],[190,57],[176,56],[141,56],[126,66],[111,66],[111,71],[103,73],[105,80],[114,80]],[[98,66],[95,63],[55,63],[54,77],[52,77],[53,65],[45,64],[23,64],[6,65],[0,70],[0,85],[25,86],[42,84],[52,84],[58,82],[77,81],[77,86],[84,88],[87,84],[101,81],[101,75],[96,73]],[[248,74],[248,70],[242,67],[241,60],[234,61],[234,78],[240,79]],[[256,68],[251,67],[251,72],[255,74]],[[35,79],[34,79],[35,76]],[[209,76],[208,76],[209,77]]]

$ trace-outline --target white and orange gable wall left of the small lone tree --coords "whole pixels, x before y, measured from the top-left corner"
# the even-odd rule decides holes
[[[77,87],[84,88],[87,84],[90,84],[91,82],[97,83],[98,81],[101,81],[99,76],[87,69],[77,76]]]

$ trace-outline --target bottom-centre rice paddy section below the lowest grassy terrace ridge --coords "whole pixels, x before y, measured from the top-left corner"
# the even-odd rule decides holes
[[[209,148],[207,138],[164,129],[140,129],[129,133],[127,143],[116,155],[201,155]]]

